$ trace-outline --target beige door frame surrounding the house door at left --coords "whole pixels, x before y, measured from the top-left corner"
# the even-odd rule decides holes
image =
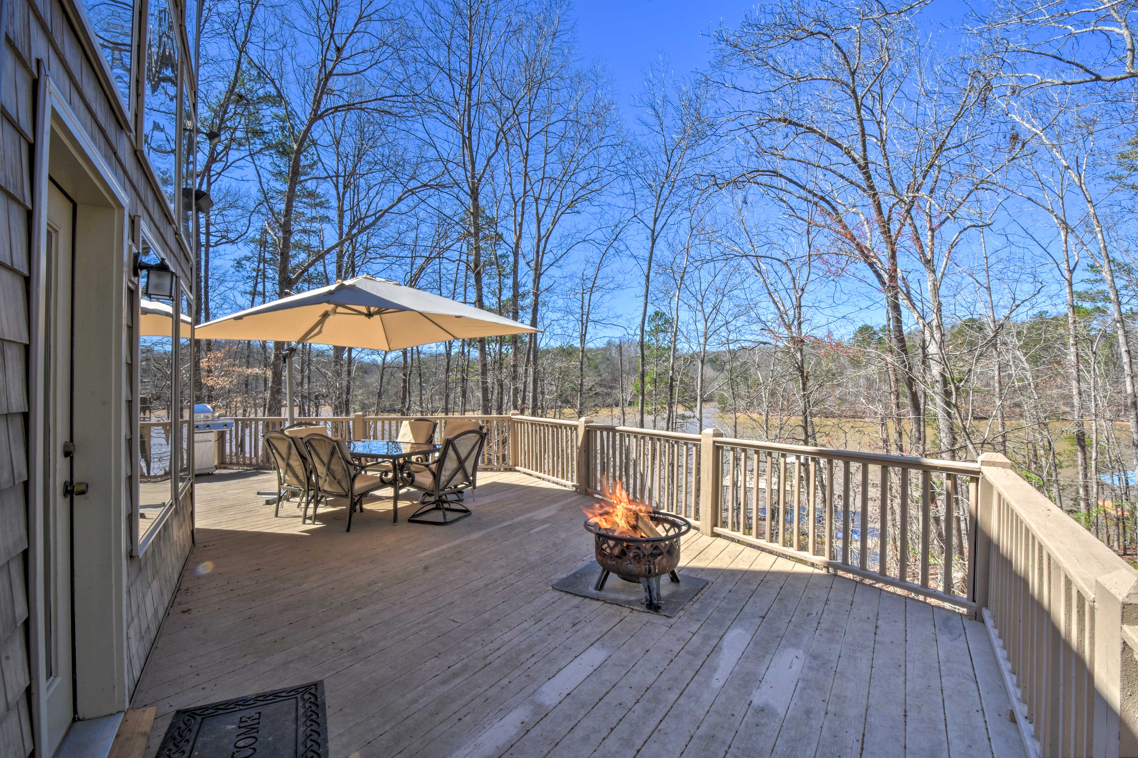
[[[106,381],[98,382],[98,391],[106,397],[106,426],[99,428],[99,434],[106,435],[108,444],[104,450],[76,443],[76,460],[82,460],[85,452],[92,459],[82,468],[76,465],[75,477],[91,482],[91,494],[75,498],[73,508],[73,528],[84,539],[73,538],[72,573],[73,573],[73,628],[74,628],[74,667],[75,667],[75,711],[79,718],[94,718],[125,710],[127,703],[126,681],[126,623],[125,623],[125,586],[126,556],[123,545],[126,543],[126,517],[124,513],[123,476],[114,473],[124,470],[124,432],[123,399],[125,392],[124,349],[123,344],[123,282],[129,273],[127,252],[127,208],[129,195],[118,183],[115,174],[96,148],[94,141],[84,130],[82,122],[67,103],[64,93],[51,81],[47,66],[38,60],[39,88],[36,100],[35,142],[32,163],[32,245],[31,245],[31,301],[30,308],[30,344],[28,344],[28,477],[27,477],[27,515],[28,515],[28,653],[31,664],[32,694],[32,733],[34,744],[46,744],[46,723],[43,707],[46,703],[46,650],[43,644],[44,624],[44,560],[43,540],[43,476],[44,461],[40,449],[43,444],[43,330],[44,330],[44,244],[47,242],[47,201],[49,165],[55,157],[66,160],[68,176],[82,182],[89,197],[97,199],[97,205],[84,206],[83,200],[75,198],[79,206],[74,243],[77,249],[76,266],[73,275],[80,275],[80,258],[100,257],[106,251],[112,255],[102,265],[108,265],[108,276],[99,282],[89,282],[76,286],[73,300],[73,314],[77,324],[102,324],[107,334],[96,333],[94,347],[107,351],[106,365],[112,369],[105,375]],[[63,155],[52,156],[51,145]],[[74,197],[74,195],[73,195]],[[84,224],[84,210],[88,208],[86,228],[99,230],[106,242],[84,244],[80,225]],[[91,226],[94,224],[94,226]],[[88,241],[89,242],[89,241]],[[81,247],[82,245],[82,247]],[[100,283],[110,283],[110,289],[99,288]],[[93,290],[93,291],[92,291]],[[92,306],[98,305],[101,311],[92,313]],[[114,316],[117,315],[117,318]],[[91,318],[94,316],[94,318]],[[88,327],[90,328],[90,326]],[[80,348],[85,340],[75,341],[75,365],[82,365],[79,358]],[[88,348],[90,351],[90,348]],[[104,367],[98,367],[97,370]],[[85,373],[85,372],[84,372]],[[76,374],[76,378],[80,378]],[[76,408],[80,399],[75,388],[72,389]],[[116,413],[117,411],[117,413]],[[82,436],[79,431],[80,419],[73,418],[75,436]],[[88,420],[88,434],[92,427]],[[94,465],[108,466],[101,475]],[[86,470],[83,470],[86,469]],[[84,502],[85,501],[85,502]]]

